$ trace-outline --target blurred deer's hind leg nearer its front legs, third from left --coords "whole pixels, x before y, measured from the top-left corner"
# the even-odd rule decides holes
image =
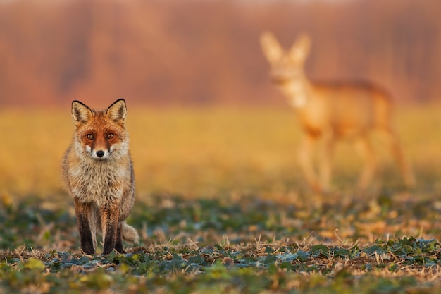
[[[371,143],[368,141],[366,136],[357,138],[354,142],[354,147],[363,161],[363,170],[361,171],[357,186],[360,189],[366,189],[369,183],[371,183],[373,173],[375,172],[375,155],[373,154]]]

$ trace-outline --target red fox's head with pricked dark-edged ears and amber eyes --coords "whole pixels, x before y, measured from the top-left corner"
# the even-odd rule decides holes
[[[97,161],[117,159],[128,154],[128,133],[124,126],[126,114],[124,99],[116,100],[103,111],[96,111],[82,102],[73,101],[75,152],[80,157]]]

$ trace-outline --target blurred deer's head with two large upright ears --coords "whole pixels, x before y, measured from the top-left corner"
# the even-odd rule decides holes
[[[306,79],[304,63],[311,48],[309,35],[300,35],[292,47],[285,51],[271,32],[263,32],[261,47],[271,65],[270,76],[273,82],[285,84],[286,82],[303,82]]]

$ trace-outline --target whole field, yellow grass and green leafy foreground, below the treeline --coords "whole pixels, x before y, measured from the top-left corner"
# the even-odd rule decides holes
[[[371,188],[342,142],[329,195],[299,173],[290,109],[128,111],[142,241],[88,256],[60,179],[70,109],[0,110],[0,293],[440,292],[440,105],[397,109],[416,188],[373,135]]]

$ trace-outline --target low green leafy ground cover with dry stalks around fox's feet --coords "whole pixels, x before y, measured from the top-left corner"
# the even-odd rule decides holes
[[[138,204],[130,217],[142,245],[107,256],[78,251],[75,216],[68,210],[12,205],[0,214],[5,225],[0,288],[5,293],[434,293],[440,286],[439,241],[410,235],[387,239],[394,224],[421,203],[390,200],[385,214],[382,201],[376,208],[349,204],[340,214],[337,204],[302,214],[302,205],[251,197],[231,202],[161,195],[154,206]],[[439,234],[439,212],[426,207],[426,214],[413,219],[430,220],[428,229]],[[353,234],[342,240],[335,228],[348,220]],[[369,242],[366,226],[380,228],[380,221],[383,231]]]

